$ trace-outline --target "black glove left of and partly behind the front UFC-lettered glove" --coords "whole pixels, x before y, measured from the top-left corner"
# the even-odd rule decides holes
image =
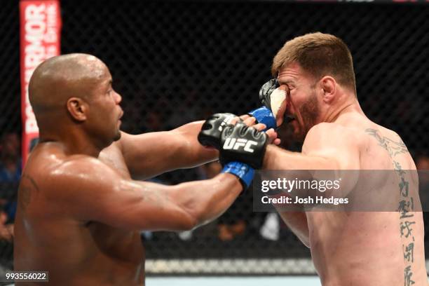
[[[214,147],[219,150],[221,147],[220,137],[222,130],[236,117],[235,114],[230,113],[213,114],[207,118],[200,133],[198,133],[198,142],[203,146]],[[242,120],[240,119],[240,121]]]

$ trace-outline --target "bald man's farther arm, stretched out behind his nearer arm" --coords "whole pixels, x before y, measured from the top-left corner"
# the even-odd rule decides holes
[[[174,130],[141,135],[122,132],[118,144],[132,176],[145,179],[217,159],[217,150],[207,149],[197,140],[203,122],[196,121]]]

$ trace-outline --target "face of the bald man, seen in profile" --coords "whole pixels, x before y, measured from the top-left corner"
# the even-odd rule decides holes
[[[109,69],[104,66],[104,71],[95,84],[92,100],[90,100],[93,130],[97,130],[98,136],[110,142],[121,138],[119,127],[123,115],[123,110],[119,105],[122,97],[116,93],[111,84],[111,74]]]

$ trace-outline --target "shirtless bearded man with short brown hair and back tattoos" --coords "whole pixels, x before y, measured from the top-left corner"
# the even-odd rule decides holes
[[[304,145],[301,153],[268,145],[266,170],[416,170],[400,136],[370,121],[360,108],[352,57],[341,39],[314,33],[287,41],[272,72],[278,88],[273,80],[266,83],[261,100],[277,125],[289,121],[282,127],[292,128]],[[220,157],[230,152],[219,151]],[[372,179],[366,183],[390,188],[384,177]],[[389,191],[400,193],[398,184]],[[324,286],[428,285],[421,212],[280,215],[310,247]]]

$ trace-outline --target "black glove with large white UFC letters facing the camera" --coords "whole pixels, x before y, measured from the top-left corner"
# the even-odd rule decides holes
[[[244,123],[227,125],[222,131],[220,161],[222,165],[239,161],[254,169],[262,167],[268,136]]]

